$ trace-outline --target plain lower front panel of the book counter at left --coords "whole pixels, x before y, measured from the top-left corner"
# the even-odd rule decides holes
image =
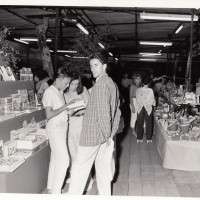
[[[0,173],[0,193],[40,193],[47,186],[49,145],[42,145],[12,173]]]

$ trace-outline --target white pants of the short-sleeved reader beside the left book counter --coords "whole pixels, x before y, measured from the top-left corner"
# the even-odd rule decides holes
[[[47,189],[52,194],[60,194],[69,166],[69,154],[66,144],[66,127],[47,127],[47,134],[51,148]]]

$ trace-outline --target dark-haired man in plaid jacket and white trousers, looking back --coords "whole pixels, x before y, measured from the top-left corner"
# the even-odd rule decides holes
[[[106,73],[106,63],[106,59],[101,54],[90,56],[90,68],[96,83],[85,110],[77,161],[72,171],[68,194],[83,194],[95,162],[99,194],[111,195],[110,163],[106,156],[108,147],[118,129],[121,112],[119,91]]]

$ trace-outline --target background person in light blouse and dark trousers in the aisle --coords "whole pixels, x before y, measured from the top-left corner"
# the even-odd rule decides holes
[[[138,88],[136,91],[137,101],[137,143],[143,142],[144,134],[144,121],[146,122],[146,138],[147,143],[152,142],[153,135],[153,115],[152,106],[155,105],[154,93],[151,88],[148,87],[151,79],[145,77],[143,79],[143,87]]]

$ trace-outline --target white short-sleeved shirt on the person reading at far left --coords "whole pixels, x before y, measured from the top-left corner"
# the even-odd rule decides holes
[[[65,105],[65,99],[63,91],[58,90],[56,87],[51,85],[48,87],[43,95],[42,103],[44,107],[51,107],[53,110],[56,110],[63,105]],[[67,110],[64,110],[57,116],[48,120],[47,125],[52,127],[65,127],[68,124],[68,114]]]

